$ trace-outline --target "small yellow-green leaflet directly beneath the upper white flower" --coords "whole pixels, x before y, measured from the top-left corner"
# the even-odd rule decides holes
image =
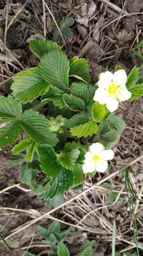
[[[105,121],[109,114],[110,111],[106,108],[105,105],[101,105],[98,102],[93,104],[92,116],[97,123],[102,123]]]

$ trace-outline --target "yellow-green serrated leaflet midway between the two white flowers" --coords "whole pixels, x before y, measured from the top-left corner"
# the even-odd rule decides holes
[[[86,124],[81,124],[70,129],[72,136],[77,136],[78,138],[84,136],[92,136],[98,131],[98,125],[93,120],[87,122]]]

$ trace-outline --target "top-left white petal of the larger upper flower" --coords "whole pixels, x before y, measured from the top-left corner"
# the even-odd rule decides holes
[[[100,79],[98,81],[98,87],[100,89],[107,89],[109,84],[112,83],[113,74],[110,71],[106,71],[100,74]]]

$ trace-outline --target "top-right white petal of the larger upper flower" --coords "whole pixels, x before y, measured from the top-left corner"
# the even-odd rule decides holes
[[[112,81],[115,84],[124,85],[126,84],[127,76],[124,69],[117,70],[112,77]]]

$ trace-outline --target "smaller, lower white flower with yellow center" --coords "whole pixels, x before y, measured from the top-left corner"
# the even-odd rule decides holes
[[[108,168],[108,160],[114,157],[111,149],[105,150],[101,143],[93,143],[86,152],[82,170],[84,173],[105,172]]]

